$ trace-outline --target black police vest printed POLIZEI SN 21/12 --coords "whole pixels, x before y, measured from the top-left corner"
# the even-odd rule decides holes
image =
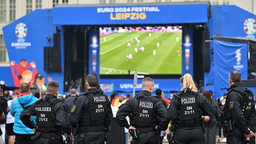
[[[56,117],[52,113],[52,107],[61,102],[60,99],[51,98],[43,98],[36,102],[35,110],[36,110],[36,124],[38,125],[38,131],[41,132],[52,132],[56,131]]]

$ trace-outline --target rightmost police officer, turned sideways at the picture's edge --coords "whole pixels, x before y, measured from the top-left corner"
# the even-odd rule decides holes
[[[224,106],[227,144],[244,144],[246,137],[255,136],[249,129],[256,123],[253,93],[244,88],[241,81],[240,72],[230,72],[230,88]]]

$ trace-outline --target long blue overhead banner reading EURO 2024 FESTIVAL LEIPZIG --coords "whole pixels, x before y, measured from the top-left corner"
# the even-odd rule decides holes
[[[207,4],[54,7],[54,25],[207,23]]]

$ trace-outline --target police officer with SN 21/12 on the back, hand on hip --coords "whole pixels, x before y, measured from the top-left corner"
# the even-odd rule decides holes
[[[62,130],[73,139],[65,106],[57,99],[59,89],[60,84],[57,81],[50,81],[46,96],[20,114],[22,123],[36,132],[32,139],[37,139],[37,144],[63,144]],[[29,120],[30,116],[36,116],[37,127]]]

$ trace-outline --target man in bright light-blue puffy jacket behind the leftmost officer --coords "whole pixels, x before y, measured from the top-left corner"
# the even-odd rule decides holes
[[[35,144],[31,140],[31,136],[34,136],[34,131],[26,127],[20,120],[20,113],[23,111],[21,106],[28,107],[38,100],[30,92],[30,87],[28,83],[23,83],[20,85],[20,95],[12,100],[11,104],[11,115],[15,117],[13,132],[15,133],[15,143],[16,144]],[[33,121],[36,123],[36,116],[31,116]]]

